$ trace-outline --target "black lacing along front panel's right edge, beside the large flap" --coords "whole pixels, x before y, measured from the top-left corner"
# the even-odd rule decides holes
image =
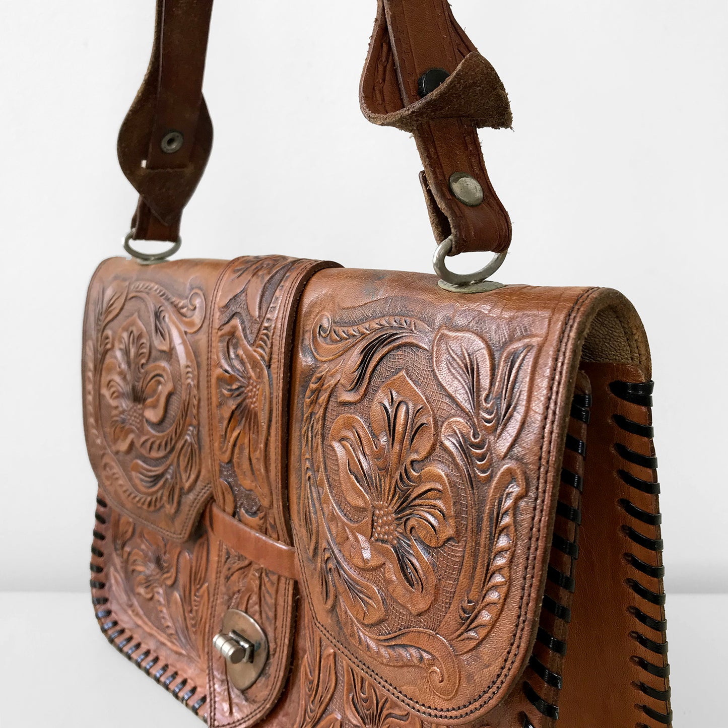
[[[576,420],[579,423],[587,424],[590,418],[590,407],[591,397],[590,395],[574,395],[573,403],[571,404],[571,419]],[[585,440],[574,437],[574,435],[567,435],[566,437],[566,449],[574,453],[579,458],[579,465],[583,468],[584,458],[587,451]],[[576,472],[572,472],[564,467],[561,470],[561,496],[564,500],[559,500],[556,506],[556,513],[561,516],[563,523],[561,523],[561,533],[554,532],[552,540],[552,555],[556,552],[566,556],[569,564],[569,573],[565,573],[560,569],[549,563],[547,568],[547,579],[560,590],[566,591],[567,593],[574,593],[576,582],[571,574],[574,573],[574,561],[579,556],[579,546],[577,538],[579,534],[579,524],[582,521],[582,513],[580,510],[581,504],[581,493],[583,488],[583,478]],[[574,491],[571,491],[574,488]],[[571,501],[565,502],[565,500]],[[576,505],[573,505],[576,502]],[[573,540],[571,537],[567,537],[565,534],[569,524],[573,526]],[[561,604],[550,594],[545,594],[542,603],[542,620],[537,630],[537,641],[539,644],[545,646],[545,648],[553,653],[555,656],[553,660],[563,658],[566,654],[566,642],[558,639],[557,637],[550,634],[545,626],[543,625],[543,615],[545,613],[553,615],[556,620],[561,620],[565,624],[571,622],[571,609],[566,604]],[[563,680],[561,675],[539,659],[536,654],[531,654],[529,660],[529,668],[533,671],[534,675],[537,676],[543,684],[561,690],[563,687]],[[536,708],[539,713],[550,719],[558,719],[558,701],[554,703],[545,700],[542,695],[539,695],[537,689],[529,681],[523,682],[523,694],[529,700],[529,703]],[[524,713],[522,716],[523,728],[534,728],[531,723],[529,716]]]

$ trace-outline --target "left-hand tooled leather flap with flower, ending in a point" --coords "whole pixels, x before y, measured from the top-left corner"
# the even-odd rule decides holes
[[[189,538],[209,499],[205,373],[221,261],[104,262],[84,320],[84,426],[108,501]]]

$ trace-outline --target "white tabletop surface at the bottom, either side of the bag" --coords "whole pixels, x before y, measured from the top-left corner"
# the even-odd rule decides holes
[[[728,596],[673,595],[667,611],[676,727],[726,728]],[[2,728],[202,725],[108,645],[85,594],[0,594],[0,656]]]

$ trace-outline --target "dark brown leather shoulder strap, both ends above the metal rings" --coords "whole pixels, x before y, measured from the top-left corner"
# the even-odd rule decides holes
[[[135,240],[178,239],[210,156],[202,77],[212,5],[157,0],[149,69],[119,132],[119,163],[140,194]],[[438,242],[451,237],[453,255],[505,252],[510,218],[488,179],[478,127],[510,127],[510,106],[447,0],[379,0],[360,102],[369,121],[414,135]]]

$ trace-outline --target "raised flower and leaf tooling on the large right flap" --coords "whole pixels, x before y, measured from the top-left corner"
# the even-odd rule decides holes
[[[406,347],[431,352],[430,374],[420,376],[437,381],[461,413],[442,427],[432,395],[408,376],[402,357],[394,365],[387,359]],[[310,348],[317,368],[304,398],[297,517],[318,593],[357,648],[383,665],[419,666],[436,694],[451,697],[460,679],[456,655],[486,638],[510,585],[515,510],[526,494],[512,450],[535,341],[511,341],[496,356],[467,331],[433,332],[404,317],[336,325],[325,314]],[[377,390],[368,418],[347,412],[382,362],[384,371],[399,371]],[[327,448],[338,462],[336,486]],[[447,452],[454,468],[438,465]],[[455,489],[464,518],[456,519]],[[459,577],[440,604],[435,563],[451,541],[460,545]],[[395,605],[410,618],[392,629]],[[441,616],[433,628],[435,605]]]

